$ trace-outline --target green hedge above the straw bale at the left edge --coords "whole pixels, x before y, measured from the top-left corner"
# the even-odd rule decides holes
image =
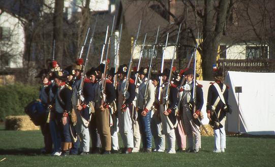
[[[0,121],[9,115],[23,115],[24,107],[39,97],[39,87],[23,84],[0,86]]]

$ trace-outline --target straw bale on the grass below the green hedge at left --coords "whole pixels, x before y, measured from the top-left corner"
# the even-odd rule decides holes
[[[35,126],[32,120],[30,120],[28,115],[20,116],[7,116],[5,122],[6,130],[15,131],[32,131],[39,130],[39,126]]]

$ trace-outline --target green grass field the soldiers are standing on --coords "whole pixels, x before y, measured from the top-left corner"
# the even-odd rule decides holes
[[[0,126],[0,166],[275,166],[274,137],[227,137],[225,153],[212,153],[213,137],[202,137],[194,153],[132,153],[52,157],[41,155],[40,131],[4,131]]]

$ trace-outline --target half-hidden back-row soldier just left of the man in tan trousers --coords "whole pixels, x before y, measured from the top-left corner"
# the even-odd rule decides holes
[[[91,67],[87,73],[87,77],[90,79],[90,88],[88,91],[90,92],[89,94],[92,96],[90,97],[91,102],[90,105],[93,105],[95,107],[95,93],[96,93],[96,85],[97,85],[97,78],[96,78],[96,68]],[[101,142],[100,142],[100,136],[98,134],[97,130],[97,123],[96,123],[96,114],[95,110],[91,110],[90,113],[90,122],[89,122],[89,133],[91,137],[91,153],[100,153],[100,147],[101,147]]]

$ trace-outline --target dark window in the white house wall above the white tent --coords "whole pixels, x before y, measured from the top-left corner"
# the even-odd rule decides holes
[[[247,59],[267,59],[268,58],[268,47],[262,46],[247,46],[246,47],[246,58]]]

